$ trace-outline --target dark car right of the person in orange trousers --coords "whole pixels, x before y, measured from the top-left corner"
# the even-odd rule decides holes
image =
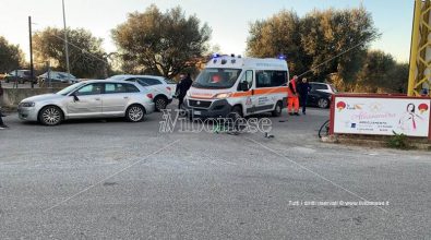
[[[307,105],[328,108],[331,106],[331,97],[337,93],[335,87],[327,83],[310,82],[310,93],[307,100]]]

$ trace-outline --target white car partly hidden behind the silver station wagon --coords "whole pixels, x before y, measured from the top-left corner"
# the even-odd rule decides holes
[[[154,95],[154,104],[156,110],[160,111],[172,103],[172,97],[176,93],[177,84],[164,76],[155,75],[113,75],[107,80],[119,80],[136,82],[141,86],[147,88]]]

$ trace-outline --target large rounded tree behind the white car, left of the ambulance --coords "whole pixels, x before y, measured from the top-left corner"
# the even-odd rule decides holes
[[[194,67],[208,48],[211,28],[195,15],[185,16],[177,7],[160,12],[151,5],[130,13],[125,23],[112,29],[112,38],[130,72],[172,77]]]

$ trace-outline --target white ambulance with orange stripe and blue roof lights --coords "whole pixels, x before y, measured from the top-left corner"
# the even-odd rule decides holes
[[[195,118],[219,118],[230,112],[280,116],[288,80],[284,59],[214,56],[193,82],[182,108]]]

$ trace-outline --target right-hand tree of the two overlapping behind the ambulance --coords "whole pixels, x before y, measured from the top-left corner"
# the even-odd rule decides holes
[[[354,82],[368,45],[376,37],[371,14],[363,8],[314,10],[301,24],[301,43],[312,59],[310,70],[320,80],[337,73],[346,83]]]

